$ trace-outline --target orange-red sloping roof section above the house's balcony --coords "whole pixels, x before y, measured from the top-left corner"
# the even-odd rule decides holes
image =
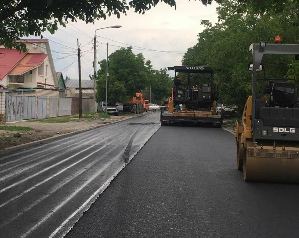
[[[26,54],[10,74],[21,75],[31,69],[40,66],[47,57],[47,54]]]

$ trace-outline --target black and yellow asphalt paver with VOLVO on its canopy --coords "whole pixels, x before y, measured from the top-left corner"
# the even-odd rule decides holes
[[[174,85],[168,110],[161,110],[161,125],[183,123],[221,127],[222,117],[216,111],[218,90],[213,82],[213,69],[204,66],[174,66],[168,67],[168,70],[174,70]],[[187,83],[183,85],[177,73],[187,73]],[[209,84],[190,85],[190,74],[194,73],[208,74]]]

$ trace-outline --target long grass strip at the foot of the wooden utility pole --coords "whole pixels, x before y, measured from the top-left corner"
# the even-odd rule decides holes
[[[99,118],[109,118],[111,117],[105,113],[89,113],[83,114],[83,121],[94,121]],[[75,116],[62,116],[55,118],[47,118],[47,119],[37,119],[37,120],[29,120],[30,122],[42,122],[42,123],[65,123],[65,122],[74,122],[79,121],[79,115]]]

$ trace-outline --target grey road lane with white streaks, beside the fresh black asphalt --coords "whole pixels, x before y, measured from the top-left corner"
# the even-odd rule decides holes
[[[149,113],[0,156],[0,237],[63,237],[159,127]]]

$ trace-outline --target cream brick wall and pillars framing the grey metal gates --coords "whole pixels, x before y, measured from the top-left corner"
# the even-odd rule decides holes
[[[38,98],[47,98],[47,117],[50,117],[50,97],[57,98],[57,111],[58,116],[58,103],[59,103],[59,90],[46,90],[46,89],[36,89],[36,91],[28,92],[10,92],[10,95],[24,95],[24,96],[35,96],[35,118],[37,119],[37,102]]]

